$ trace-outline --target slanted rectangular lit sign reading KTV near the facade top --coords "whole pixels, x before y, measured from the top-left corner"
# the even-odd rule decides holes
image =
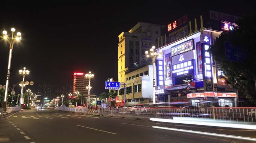
[[[190,51],[193,49],[194,49],[194,39],[191,39],[171,47],[171,56],[185,53],[186,51]]]

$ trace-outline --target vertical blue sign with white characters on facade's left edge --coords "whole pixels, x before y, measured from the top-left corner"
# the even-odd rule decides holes
[[[156,60],[157,86],[164,85],[164,60]]]

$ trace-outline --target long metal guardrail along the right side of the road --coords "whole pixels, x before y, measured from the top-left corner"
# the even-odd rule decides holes
[[[87,108],[57,107],[57,110],[90,114]],[[229,107],[211,107],[211,108],[98,108],[98,115],[119,115],[122,117],[149,117],[149,118],[172,118],[172,117],[190,117],[204,118],[224,121],[237,121],[256,123],[256,107],[229,108]]]

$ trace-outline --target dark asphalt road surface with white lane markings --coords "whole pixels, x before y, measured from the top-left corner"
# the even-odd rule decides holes
[[[191,130],[191,133],[152,126]],[[149,119],[101,117],[54,109],[24,110],[0,119],[0,143],[253,143],[194,133],[226,134],[256,138],[255,130],[162,124]]]

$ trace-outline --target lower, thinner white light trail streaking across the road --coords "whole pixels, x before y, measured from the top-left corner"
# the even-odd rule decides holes
[[[202,131],[183,130],[183,129],[178,129],[178,128],[167,128],[167,127],[158,127],[158,126],[152,126],[152,127],[159,128],[159,129],[165,129],[165,130],[171,130],[171,131],[182,131],[182,132],[193,133],[193,134],[203,134],[203,135],[208,135],[208,136],[227,137],[227,138],[232,138],[232,139],[256,141],[256,138],[252,138],[252,137],[242,137],[242,136],[233,136],[233,135],[228,135],[228,134],[216,134],[216,133],[208,133],[208,132],[202,132]]]

